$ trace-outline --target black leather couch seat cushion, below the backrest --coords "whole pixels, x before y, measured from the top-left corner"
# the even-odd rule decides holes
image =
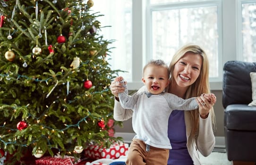
[[[224,127],[228,130],[256,131],[256,107],[232,104],[224,110]]]

